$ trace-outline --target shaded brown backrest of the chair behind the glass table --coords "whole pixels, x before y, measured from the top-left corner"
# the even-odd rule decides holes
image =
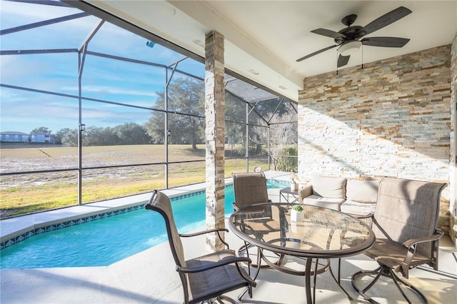
[[[238,208],[255,203],[268,203],[266,178],[263,172],[232,173],[233,193]]]

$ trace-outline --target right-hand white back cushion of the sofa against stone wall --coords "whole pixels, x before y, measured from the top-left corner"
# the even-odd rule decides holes
[[[359,203],[376,203],[378,200],[379,181],[360,181],[348,179],[346,199]]]

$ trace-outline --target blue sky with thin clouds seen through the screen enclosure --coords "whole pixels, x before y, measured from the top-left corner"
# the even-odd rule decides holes
[[[47,19],[79,13],[78,9],[0,2],[1,30],[32,24]],[[99,19],[87,16],[36,29],[0,36],[1,51],[31,49],[79,49]],[[146,46],[147,39],[104,23],[89,43],[88,50],[130,59],[172,64],[181,54],[158,44]],[[192,59],[178,66],[186,72],[204,76],[204,65]],[[164,91],[165,69],[131,64],[124,61],[86,56],[82,77],[83,96],[114,103],[154,107],[157,92]],[[78,55],[34,54],[0,56],[0,83],[34,90],[78,95]],[[0,131],[30,133],[41,126],[56,133],[61,128],[77,128],[78,99],[14,88],[0,87]],[[145,123],[150,111],[109,103],[83,101],[82,123],[108,127],[123,123]]]

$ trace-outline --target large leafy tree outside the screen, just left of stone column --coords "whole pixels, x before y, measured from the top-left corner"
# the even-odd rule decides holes
[[[165,108],[165,91],[157,92],[156,105]],[[176,78],[169,84],[168,93],[169,143],[190,143],[196,149],[197,143],[204,142],[204,83],[194,78]],[[189,114],[189,115],[183,115]],[[146,133],[154,142],[163,143],[165,115],[153,111],[145,124]]]

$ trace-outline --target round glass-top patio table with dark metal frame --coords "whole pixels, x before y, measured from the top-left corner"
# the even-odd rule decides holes
[[[262,203],[242,208],[232,213],[229,227],[247,244],[258,248],[257,265],[263,260],[271,268],[294,275],[305,276],[306,302],[313,303],[316,295],[316,275],[313,280],[313,295],[311,295],[311,275],[318,274],[330,268],[331,258],[343,258],[363,253],[373,246],[375,236],[371,228],[358,218],[345,213],[316,206],[303,207],[303,221],[291,221],[293,204]],[[246,244],[245,243],[245,244]],[[274,261],[271,259],[273,253]],[[246,253],[248,250],[246,249]],[[306,260],[303,270],[289,268],[284,263],[285,256]],[[325,259],[326,264],[318,263]],[[314,267],[311,265],[314,260]],[[339,263],[338,263],[339,264]],[[261,267],[257,267],[254,280]],[[333,279],[342,288],[333,275]],[[351,298],[348,295],[348,298]]]

